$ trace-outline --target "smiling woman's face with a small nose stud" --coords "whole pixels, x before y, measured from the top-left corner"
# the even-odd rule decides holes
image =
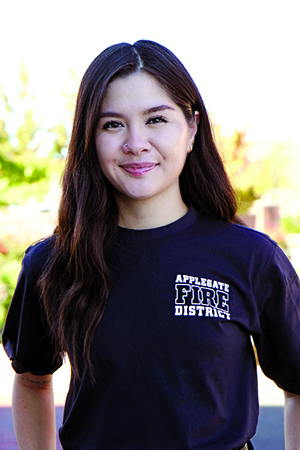
[[[96,133],[97,156],[117,202],[180,196],[179,175],[197,131],[146,73],[108,86]]]

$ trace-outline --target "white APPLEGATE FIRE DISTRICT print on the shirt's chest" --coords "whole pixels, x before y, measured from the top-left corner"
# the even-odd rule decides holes
[[[208,278],[177,275],[175,316],[218,317],[230,320],[229,284]]]

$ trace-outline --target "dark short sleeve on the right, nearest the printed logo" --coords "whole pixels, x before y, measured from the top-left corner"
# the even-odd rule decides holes
[[[300,395],[300,282],[279,247],[257,299],[260,329],[253,338],[261,369],[280,388]]]

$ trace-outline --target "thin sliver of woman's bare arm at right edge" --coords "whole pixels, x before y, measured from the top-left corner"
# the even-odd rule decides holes
[[[285,449],[300,449],[300,396],[285,392],[284,434]]]

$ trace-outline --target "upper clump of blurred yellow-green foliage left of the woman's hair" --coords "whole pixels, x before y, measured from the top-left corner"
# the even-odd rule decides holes
[[[51,130],[43,130],[41,120],[34,120],[35,96],[30,91],[23,64],[20,79],[21,85],[16,89],[19,102],[15,108],[1,89],[2,109],[6,114],[0,119],[0,206],[42,202],[51,185],[57,183],[62,169],[62,149],[67,142],[61,122]],[[19,116],[22,117],[21,123],[15,130],[9,130],[8,125],[16,123]],[[52,136],[52,148],[46,157],[40,156],[41,145],[49,135]]]

